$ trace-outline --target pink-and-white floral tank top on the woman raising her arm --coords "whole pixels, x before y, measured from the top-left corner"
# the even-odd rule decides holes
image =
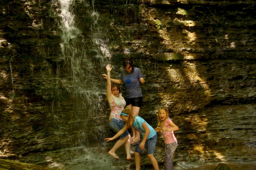
[[[117,120],[122,120],[120,117],[120,114],[122,110],[124,110],[124,106],[126,105],[126,101],[124,100],[123,96],[121,96],[123,101],[119,100],[117,97],[115,97],[115,100],[109,103],[109,107],[111,109],[109,119],[117,119]]]

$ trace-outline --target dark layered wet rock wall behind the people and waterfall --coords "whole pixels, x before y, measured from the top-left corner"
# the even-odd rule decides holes
[[[90,119],[93,113],[74,109],[81,107],[79,99],[86,96],[72,93],[72,78],[63,76],[71,65],[65,65],[60,47],[62,30],[56,15],[61,13],[60,3],[1,0],[1,157],[38,163],[44,155],[34,159],[33,153],[101,145],[98,141],[113,135],[107,124],[106,82],[100,77],[105,65],[97,65],[99,56],[108,55],[97,51],[104,44],[110,53],[104,62],[112,64],[113,78],[119,77],[126,57],[141,69],[146,83],[141,86],[140,115],[149,124],[157,125],[159,107],[169,108],[180,128],[175,133],[179,143],[175,166],[198,160],[236,161],[237,154],[243,155],[239,161],[255,160],[254,6],[254,1],[99,0],[93,6],[89,1],[74,1],[70,8],[80,38],[87,42],[78,50],[88,49],[86,55],[96,63],[92,70],[99,72],[95,82],[88,84],[102,89],[98,117]],[[88,67],[86,64],[81,62],[81,68]],[[156,158],[162,162],[161,134],[158,141]],[[144,156],[145,164],[150,165]],[[69,158],[63,159],[59,161]],[[48,161],[41,164],[47,166]]]

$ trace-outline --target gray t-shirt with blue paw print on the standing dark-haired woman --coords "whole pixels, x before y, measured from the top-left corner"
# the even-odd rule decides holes
[[[140,78],[143,78],[143,76],[137,67],[134,67],[134,70],[130,73],[124,69],[122,70],[119,79],[124,83],[126,98],[142,97]]]

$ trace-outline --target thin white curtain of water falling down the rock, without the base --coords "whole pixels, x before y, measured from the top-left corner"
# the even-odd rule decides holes
[[[52,102],[53,117],[59,121],[60,147],[97,144],[95,142],[106,136],[102,120],[107,118],[102,114],[101,96],[106,89],[100,75],[109,58],[108,40],[102,38],[104,33],[98,26],[99,14],[94,10],[94,1],[92,7],[86,0],[55,0],[53,3],[60,7],[56,14],[61,33],[61,55]],[[81,18],[75,14],[75,3],[86,7],[89,28],[79,25]],[[86,29],[86,34],[81,28]]]

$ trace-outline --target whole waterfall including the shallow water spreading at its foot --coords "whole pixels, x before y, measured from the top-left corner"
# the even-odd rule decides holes
[[[57,7],[52,9],[61,37],[61,54],[54,59],[55,87],[49,102],[57,151],[44,153],[45,158],[52,167],[109,167],[99,164],[99,160],[106,161],[99,152],[107,153],[103,139],[109,134],[102,97],[106,81],[101,74],[110,58],[108,38],[99,26],[100,15],[94,10],[94,1],[52,0],[52,4]],[[83,16],[85,12],[87,18],[79,18],[79,11]]]

